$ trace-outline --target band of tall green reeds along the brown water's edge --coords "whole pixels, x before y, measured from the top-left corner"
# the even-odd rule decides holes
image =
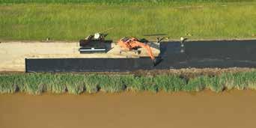
[[[84,75],[84,74],[6,74],[0,76],[0,94],[81,94],[105,91],[202,91],[222,92],[231,89],[256,89],[256,72],[223,73],[219,76],[183,78],[175,75]]]

